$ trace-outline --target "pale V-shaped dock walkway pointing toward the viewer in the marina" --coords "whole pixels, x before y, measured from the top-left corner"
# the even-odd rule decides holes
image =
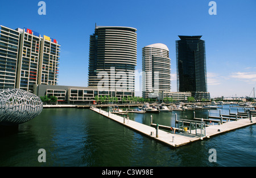
[[[152,126],[141,124],[133,120],[129,120],[125,118],[125,116],[118,116],[113,113],[109,113],[95,107],[92,107],[90,109],[94,112],[100,113],[102,116],[108,117],[111,120],[118,122],[123,126],[126,126],[127,128],[134,130],[135,132],[141,133],[146,137],[154,139],[155,141],[163,143],[164,145],[170,146],[172,148],[180,147],[195,141],[200,141],[205,138],[210,138],[214,135],[222,134],[225,132],[229,132],[231,130],[256,124],[256,117],[253,117],[251,119],[252,121],[250,121],[249,118],[243,118],[238,121],[226,122],[221,125],[207,126],[205,128],[204,137],[197,135],[196,130],[191,130],[192,131],[191,134],[188,132],[174,133],[174,132],[171,132],[171,127],[170,127],[170,132],[165,132],[164,130],[158,129],[158,133],[156,134],[156,128],[155,128],[156,126],[154,126],[154,124],[151,124],[152,126],[154,126],[152,127]],[[162,125],[159,126],[159,128],[161,127],[163,128],[164,126]],[[165,126],[165,127],[168,130],[168,126]]]

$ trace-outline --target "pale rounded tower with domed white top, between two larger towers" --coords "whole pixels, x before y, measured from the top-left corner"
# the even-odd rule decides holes
[[[142,49],[142,97],[159,91],[171,91],[171,59],[167,46],[156,43]]]

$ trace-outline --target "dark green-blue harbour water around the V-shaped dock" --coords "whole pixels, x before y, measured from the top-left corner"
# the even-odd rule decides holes
[[[130,113],[130,119],[149,125],[152,115],[154,123],[175,126],[175,113],[193,117],[193,111],[173,111]],[[221,113],[228,114],[229,106]],[[196,117],[207,115],[208,110],[196,111]],[[218,116],[219,109],[210,115]],[[43,109],[17,134],[0,138],[0,166],[256,166],[255,129],[247,126],[171,149],[89,109]],[[38,162],[39,149],[46,150],[46,163]],[[216,163],[209,162],[209,149],[216,149]]]

